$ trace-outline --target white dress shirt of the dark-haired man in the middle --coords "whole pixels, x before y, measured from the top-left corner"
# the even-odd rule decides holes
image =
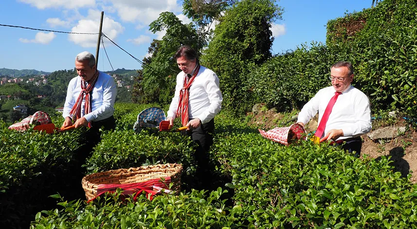
[[[177,75],[177,86],[175,87],[174,98],[168,110],[168,117],[175,119],[178,102],[180,99],[180,91],[184,83],[184,72],[181,71]],[[190,87],[190,96],[188,104],[188,115],[190,119],[198,118],[201,123],[208,123],[218,114],[221,109],[221,95],[218,76],[214,71],[200,66],[199,73],[194,79]]]

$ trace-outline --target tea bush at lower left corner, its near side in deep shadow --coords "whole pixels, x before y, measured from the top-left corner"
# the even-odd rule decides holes
[[[54,206],[48,195],[73,196],[72,181],[79,183],[72,170],[79,131],[45,134],[8,126],[0,121],[0,223],[27,228],[37,211]]]

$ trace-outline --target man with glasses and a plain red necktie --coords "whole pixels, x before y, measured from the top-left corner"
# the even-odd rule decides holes
[[[297,123],[304,126],[319,112],[316,136],[320,135],[317,136],[320,141],[332,140],[335,145],[344,143],[343,149],[349,153],[356,151],[355,156],[359,157],[360,136],[371,131],[371,110],[368,97],[351,85],[353,77],[353,66],[349,62],[340,61],[332,65],[329,77],[332,86],[319,90],[308,101],[298,114]]]

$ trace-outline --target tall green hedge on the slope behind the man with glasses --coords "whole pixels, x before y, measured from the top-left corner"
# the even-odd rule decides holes
[[[254,68],[242,85],[251,88],[253,101],[241,104],[301,108],[330,85],[332,64],[349,61],[355,68],[353,85],[369,97],[373,110],[401,110],[416,117],[416,16],[415,0],[383,0],[377,7],[330,20],[326,45],[300,45]]]

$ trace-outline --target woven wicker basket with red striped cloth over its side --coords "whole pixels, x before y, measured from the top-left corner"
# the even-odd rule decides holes
[[[117,169],[84,176],[83,189],[87,200],[97,195],[99,184],[130,184],[143,182],[155,178],[171,177],[171,191],[177,194],[181,189],[181,164],[158,164],[141,166],[138,168]]]

